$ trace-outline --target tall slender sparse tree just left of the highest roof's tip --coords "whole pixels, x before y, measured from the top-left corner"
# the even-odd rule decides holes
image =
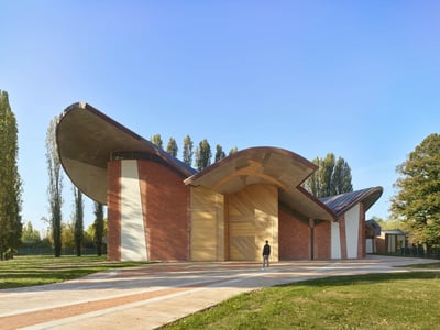
[[[48,174],[48,202],[51,210],[51,230],[54,240],[54,254],[56,257],[62,254],[62,206],[63,206],[63,172],[56,145],[55,130],[58,118],[55,117],[46,133],[46,162]]]

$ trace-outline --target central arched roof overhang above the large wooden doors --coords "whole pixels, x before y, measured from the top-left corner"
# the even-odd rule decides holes
[[[185,179],[220,194],[234,194],[248,186],[268,184],[278,187],[279,201],[300,215],[336,220],[336,215],[300,187],[317,166],[306,158],[278,147],[251,147],[239,151]]]

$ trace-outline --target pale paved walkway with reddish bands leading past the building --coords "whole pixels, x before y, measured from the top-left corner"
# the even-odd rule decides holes
[[[0,329],[155,329],[260,287],[438,262],[369,256],[348,261],[161,263],[61,284],[0,290]]]

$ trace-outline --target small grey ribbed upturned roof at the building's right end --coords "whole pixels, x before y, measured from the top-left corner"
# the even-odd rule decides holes
[[[382,187],[373,187],[336,196],[323,197],[319,200],[339,217],[358,202],[362,202],[364,205],[364,210],[366,212],[373,206],[373,204],[380,199],[382,193]]]

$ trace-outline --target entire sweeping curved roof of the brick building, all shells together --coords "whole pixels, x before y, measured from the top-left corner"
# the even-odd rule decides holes
[[[366,202],[369,209],[382,188],[360,194],[317,199],[300,185],[317,166],[287,150],[270,146],[239,151],[196,173],[150,141],[130,131],[94,107],[78,102],[67,107],[56,128],[61,163],[72,182],[91,199],[107,204],[107,165],[114,152],[139,152],[172,168],[186,185],[204,186],[220,194],[234,194],[254,184],[278,187],[279,200],[307,218],[336,221],[346,201]],[[380,190],[378,190],[380,189]],[[380,194],[378,194],[380,191]]]

